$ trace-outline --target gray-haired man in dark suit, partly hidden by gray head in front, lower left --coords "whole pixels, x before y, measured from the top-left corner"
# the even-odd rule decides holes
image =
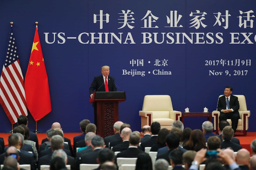
[[[40,165],[49,165],[50,160],[52,158],[53,155],[53,151],[55,150],[59,150],[59,149],[63,149],[64,147],[64,139],[62,136],[60,135],[54,135],[51,137],[50,140],[50,148],[52,150],[51,153],[48,153],[45,156],[39,157],[38,160],[38,169],[40,170]],[[71,166],[71,169],[74,169],[74,164],[75,164],[75,158],[73,158],[72,156],[67,156],[67,164]]]

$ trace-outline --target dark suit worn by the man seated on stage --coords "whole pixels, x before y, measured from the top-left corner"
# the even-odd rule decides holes
[[[240,119],[240,115],[239,115],[239,112],[238,112],[239,101],[238,101],[238,98],[236,96],[230,95],[229,106],[230,106],[230,109],[233,109],[234,111],[232,111],[230,113],[221,112],[222,109],[227,108],[226,96],[225,95],[221,96],[219,98],[218,106],[217,106],[217,110],[220,111],[219,122],[222,121],[222,120],[231,119],[232,129],[234,130],[234,132],[236,132],[238,119]]]

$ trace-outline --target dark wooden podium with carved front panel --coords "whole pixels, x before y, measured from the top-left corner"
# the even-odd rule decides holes
[[[94,92],[90,103],[97,103],[97,135],[105,138],[114,135],[114,123],[118,121],[118,103],[125,101],[125,92]]]

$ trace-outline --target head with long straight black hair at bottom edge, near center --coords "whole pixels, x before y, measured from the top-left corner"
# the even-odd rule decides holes
[[[148,153],[139,153],[135,170],[153,170],[152,160]]]

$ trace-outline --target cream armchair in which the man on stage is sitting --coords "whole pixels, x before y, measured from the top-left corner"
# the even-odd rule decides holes
[[[221,97],[223,95],[220,95]],[[251,111],[247,110],[246,106],[246,101],[244,95],[234,95],[238,97],[239,101],[239,114],[240,114],[240,119],[238,120],[238,126],[236,128],[236,132],[241,132],[244,133],[244,136],[246,135],[246,130],[248,129],[248,118],[251,115]],[[217,102],[218,103],[218,102]],[[214,117],[214,130],[216,130],[216,134],[218,135],[218,126],[219,126],[219,115],[220,112],[217,110],[214,110],[211,113],[212,117]],[[231,126],[231,119],[227,119],[227,122],[229,122]]]

